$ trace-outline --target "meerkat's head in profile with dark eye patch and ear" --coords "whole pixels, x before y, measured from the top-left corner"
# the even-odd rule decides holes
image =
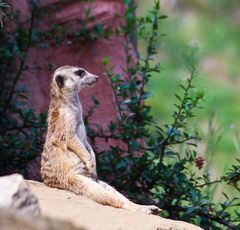
[[[62,66],[55,70],[52,84],[60,91],[80,92],[83,88],[92,86],[98,80],[98,76],[77,66]]]

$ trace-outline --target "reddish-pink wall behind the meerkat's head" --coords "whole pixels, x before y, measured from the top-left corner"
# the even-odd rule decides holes
[[[88,23],[91,27],[96,22],[102,23],[106,27],[119,27],[121,21],[116,15],[124,13],[122,0],[96,0],[94,3],[68,1],[66,4],[58,5],[59,11],[49,10],[49,6],[57,5],[56,0],[39,1],[48,12],[40,27],[48,29],[52,23],[64,25],[71,31],[79,27],[79,19],[85,14],[89,7],[95,19]],[[14,8],[21,12],[21,18],[29,17],[29,7],[27,0],[12,0]],[[29,104],[38,112],[45,111],[49,104],[49,82],[51,70],[49,64],[56,69],[62,65],[77,65],[86,68],[92,73],[97,74],[100,79],[96,85],[86,89],[81,93],[80,98],[83,108],[86,111],[91,105],[91,95],[94,95],[100,102],[91,122],[106,126],[111,120],[116,119],[117,111],[115,108],[112,89],[109,85],[107,76],[104,75],[102,59],[111,57],[111,63],[116,64],[116,71],[121,73],[121,66],[124,66],[125,53],[123,45],[125,38],[113,36],[110,39],[100,38],[97,41],[73,41],[67,39],[64,44],[52,45],[50,48],[31,48],[29,50],[27,65],[29,69],[23,75],[23,81],[27,83],[30,93]],[[104,142],[98,141],[99,150],[104,150]],[[34,168],[32,178],[39,177],[39,163],[32,166]]]

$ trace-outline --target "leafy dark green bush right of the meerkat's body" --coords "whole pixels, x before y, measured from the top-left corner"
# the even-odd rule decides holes
[[[211,186],[220,183],[240,191],[239,162],[225,176],[211,181],[209,174],[200,171],[205,159],[195,150],[198,133],[189,127],[204,97],[204,92],[197,90],[194,84],[198,76],[196,47],[185,47],[183,58],[189,77],[175,95],[177,103],[172,123],[157,125],[151,108],[144,103],[151,96],[146,90],[151,76],[161,72],[154,57],[157,56],[156,41],[161,36],[159,24],[166,17],[159,14],[159,8],[156,1],[148,16],[136,18],[134,8],[128,5],[127,25],[122,32],[129,36],[131,31],[136,31],[138,42],[144,40],[141,44],[146,44],[146,50],[144,55],[138,54],[135,63],[130,41],[125,45],[124,76],[113,74],[110,60],[103,60],[114,89],[119,120],[109,124],[107,131],[89,126],[88,133],[93,140],[96,137],[106,142],[117,139],[119,145],[110,145],[104,154],[98,155],[99,175],[132,200],[158,205],[165,217],[193,222],[204,229],[237,229],[239,197],[230,199],[223,193],[226,200],[215,204],[209,191]]]

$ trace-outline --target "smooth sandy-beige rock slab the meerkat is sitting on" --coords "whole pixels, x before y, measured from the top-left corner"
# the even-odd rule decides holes
[[[69,191],[49,188],[36,181],[27,181],[39,199],[42,214],[88,230],[200,230],[182,221],[134,213],[97,204]]]

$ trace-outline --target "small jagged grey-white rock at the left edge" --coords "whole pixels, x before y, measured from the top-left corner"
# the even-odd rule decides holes
[[[0,209],[24,215],[40,213],[37,198],[19,174],[0,177]]]

